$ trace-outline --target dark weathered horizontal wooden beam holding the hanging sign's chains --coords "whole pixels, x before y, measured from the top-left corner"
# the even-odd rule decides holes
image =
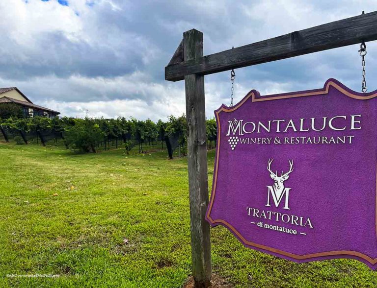
[[[377,40],[377,11],[185,59],[166,66],[165,79],[179,81],[188,74],[207,75],[373,40]]]

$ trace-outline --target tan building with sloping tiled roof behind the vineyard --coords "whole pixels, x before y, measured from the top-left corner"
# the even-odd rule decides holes
[[[45,116],[54,118],[60,114],[58,111],[34,104],[17,87],[0,88],[0,105],[1,103],[20,105],[25,117]]]

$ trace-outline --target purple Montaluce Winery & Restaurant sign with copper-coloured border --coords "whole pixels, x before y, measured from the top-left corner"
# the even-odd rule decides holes
[[[207,221],[284,259],[353,258],[376,269],[376,96],[329,79],[222,105]]]

